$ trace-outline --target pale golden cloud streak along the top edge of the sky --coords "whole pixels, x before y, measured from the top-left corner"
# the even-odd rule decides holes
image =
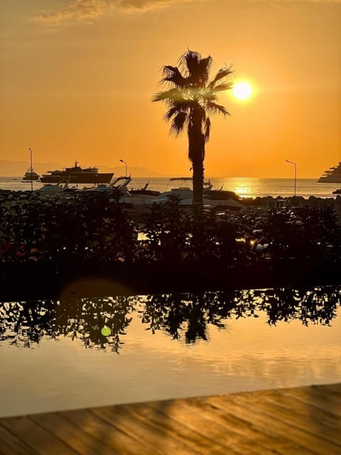
[[[34,20],[45,23],[51,27],[60,27],[68,23],[87,22],[92,23],[96,18],[113,10],[121,11],[151,11],[162,9],[175,4],[214,0],[69,0],[63,9],[44,11],[38,14]],[[229,1],[229,0],[226,0]],[[241,0],[239,0],[241,1]],[[341,4],[341,0],[251,0],[259,3],[320,3]]]

